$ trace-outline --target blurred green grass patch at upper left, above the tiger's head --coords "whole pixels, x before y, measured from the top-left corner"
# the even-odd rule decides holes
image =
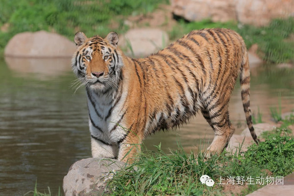
[[[8,23],[7,32],[0,31],[0,49],[8,40],[24,31],[56,31],[73,39],[76,31],[87,35],[107,35],[111,30],[123,33],[120,16],[146,14],[159,3],[169,0],[0,0],[0,26]],[[116,24],[116,27],[111,25]]]

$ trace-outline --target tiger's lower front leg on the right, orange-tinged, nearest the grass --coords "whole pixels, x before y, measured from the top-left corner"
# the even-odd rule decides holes
[[[141,151],[141,143],[143,138],[135,133],[129,133],[124,141],[119,145],[118,160],[133,163]]]

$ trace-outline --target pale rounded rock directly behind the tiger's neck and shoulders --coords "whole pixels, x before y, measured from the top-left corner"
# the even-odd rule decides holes
[[[119,46],[127,55],[145,57],[166,47],[168,34],[157,28],[135,28],[120,36]]]

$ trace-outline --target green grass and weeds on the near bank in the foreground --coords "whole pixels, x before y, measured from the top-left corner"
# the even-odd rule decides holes
[[[284,123],[294,124],[294,116]],[[256,183],[256,178],[285,176],[294,171],[294,139],[290,133],[286,128],[275,128],[263,134],[265,142],[253,144],[245,153],[240,147],[235,153],[224,151],[208,160],[203,153],[186,153],[182,147],[166,154],[159,145],[157,151],[142,152],[136,163],[117,172],[108,189],[112,196],[223,195],[230,176],[233,186],[242,186],[236,184],[237,176],[244,176],[244,184],[252,177],[254,183],[240,193],[246,195],[266,185]],[[203,174],[215,181],[213,187],[201,184]]]

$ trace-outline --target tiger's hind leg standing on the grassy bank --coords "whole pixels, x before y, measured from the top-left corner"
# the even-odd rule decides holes
[[[224,104],[220,105],[220,102]],[[208,158],[211,154],[221,154],[223,149],[227,147],[235,128],[229,120],[228,100],[218,100],[214,105],[208,105],[202,109],[201,112],[215,133],[211,145],[206,149],[206,157]]]

